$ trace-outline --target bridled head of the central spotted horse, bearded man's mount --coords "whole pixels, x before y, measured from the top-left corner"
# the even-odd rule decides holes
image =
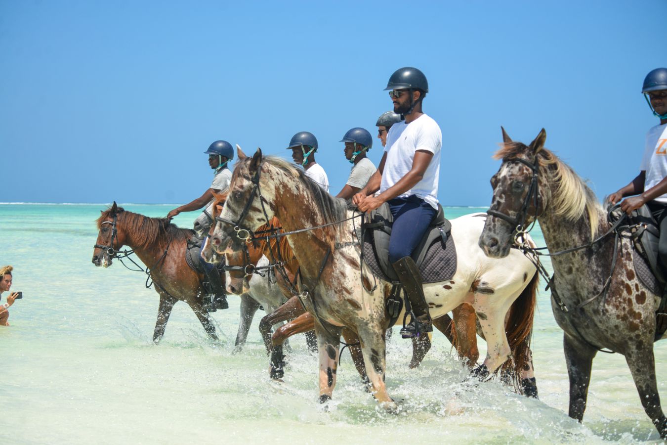
[[[263,168],[261,149],[253,157],[236,146],[238,161],[229,184],[229,195],[211,231],[213,249],[219,254],[237,251],[252,237],[252,232],[273,217],[275,187]]]

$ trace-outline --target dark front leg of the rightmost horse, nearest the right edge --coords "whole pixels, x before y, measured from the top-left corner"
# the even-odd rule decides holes
[[[644,346],[646,345],[646,346]],[[667,437],[667,418],[660,406],[658,384],[656,384],[656,362],[653,355],[653,344],[647,341],[644,348],[637,348],[626,353],[626,362],[632,372],[632,379],[642,400],[644,412],[658,429],[661,438]]]

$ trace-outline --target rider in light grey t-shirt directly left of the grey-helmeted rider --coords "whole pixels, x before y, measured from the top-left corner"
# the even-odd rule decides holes
[[[344,153],[346,159],[352,163],[352,171],[348,182],[336,197],[350,199],[364,188],[376,171],[374,163],[366,157],[366,151],[373,147],[373,137],[368,130],[354,127],[348,130],[340,141],[345,143]]]

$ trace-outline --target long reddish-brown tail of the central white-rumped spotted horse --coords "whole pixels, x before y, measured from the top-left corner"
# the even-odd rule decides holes
[[[512,303],[510,317],[505,326],[507,340],[512,350],[512,359],[505,362],[500,368],[502,378],[510,380],[519,389],[521,375],[530,366],[530,340],[533,334],[533,316],[537,304],[538,283],[540,275],[537,271]]]

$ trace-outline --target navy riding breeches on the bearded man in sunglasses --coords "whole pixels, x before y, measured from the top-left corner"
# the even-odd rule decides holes
[[[396,197],[387,202],[394,215],[389,239],[389,261],[394,264],[404,256],[412,256],[437,211],[415,195]]]

